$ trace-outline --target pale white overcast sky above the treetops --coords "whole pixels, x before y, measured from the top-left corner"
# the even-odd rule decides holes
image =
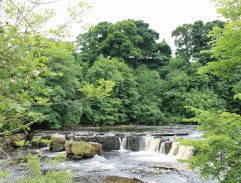
[[[174,48],[171,32],[185,23],[218,19],[209,0],[87,0],[93,8],[85,12],[86,23],[118,22],[126,19],[143,20]]]

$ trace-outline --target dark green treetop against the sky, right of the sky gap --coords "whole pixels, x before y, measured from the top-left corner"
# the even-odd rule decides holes
[[[223,28],[224,22],[214,20],[204,24],[203,21],[199,20],[193,24],[178,26],[172,31],[172,37],[175,37],[175,45],[177,46],[176,55],[186,58],[187,61],[192,59],[202,64],[212,61],[208,51],[211,49],[209,32],[214,27]]]

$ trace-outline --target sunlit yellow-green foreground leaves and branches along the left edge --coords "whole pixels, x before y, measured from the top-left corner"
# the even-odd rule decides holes
[[[63,73],[66,74],[64,79],[69,78],[68,74],[71,73],[67,71],[69,69],[67,65],[71,65],[70,63],[73,62],[70,54],[73,45],[63,43],[60,39],[65,34],[64,30],[68,23],[80,18],[82,10],[87,5],[81,2],[74,7],[75,10],[69,8],[70,20],[56,30],[50,30],[50,34],[48,34],[42,28],[44,23],[54,16],[54,11],[47,9],[39,12],[37,7],[41,3],[40,1],[22,2],[18,0],[1,2],[1,15],[4,15],[0,17],[1,134],[18,131],[21,128],[27,129],[29,125],[46,119],[46,116],[37,112],[35,107],[54,105],[57,99],[53,98],[58,98],[57,95],[60,96],[64,93],[61,88],[64,86],[62,85],[60,88],[51,86],[51,88],[50,80],[55,80],[54,77],[59,77]],[[80,12],[77,12],[78,10]],[[64,64],[60,66],[53,63],[53,60],[63,61],[65,58],[65,68],[63,68]],[[64,79],[61,81],[64,82]],[[75,79],[72,81],[71,84],[74,85],[72,88],[77,87],[74,84]],[[88,85],[90,86],[90,84]],[[108,88],[107,85],[112,86],[112,83],[102,83],[97,88],[91,87],[92,94],[97,97],[103,96],[96,90],[101,89],[103,93],[106,93],[107,90],[102,89]],[[88,88],[85,85],[83,87],[82,92],[91,93],[87,92]],[[65,88],[66,91],[68,89]],[[72,99],[73,92],[71,92],[66,92],[69,95],[68,100]],[[63,99],[66,99],[65,97]]]

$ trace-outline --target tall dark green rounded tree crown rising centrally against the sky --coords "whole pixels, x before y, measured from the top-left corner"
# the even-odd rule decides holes
[[[100,56],[121,58],[132,66],[160,66],[170,59],[171,48],[157,43],[159,34],[149,24],[138,20],[123,20],[116,24],[101,22],[78,36],[79,59],[92,65]]]

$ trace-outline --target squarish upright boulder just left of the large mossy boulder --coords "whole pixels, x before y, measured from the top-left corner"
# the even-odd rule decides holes
[[[53,134],[50,138],[49,150],[53,152],[59,152],[65,150],[66,136]]]

